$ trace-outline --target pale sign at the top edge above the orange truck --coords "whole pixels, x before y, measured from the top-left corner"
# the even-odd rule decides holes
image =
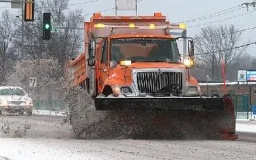
[[[115,0],[116,10],[137,10],[137,0]]]

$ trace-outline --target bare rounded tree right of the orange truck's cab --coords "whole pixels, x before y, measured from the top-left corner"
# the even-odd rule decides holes
[[[241,38],[239,32],[233,25],[229,27],[205,27],[195,37],[195,52],[197,59],[204,64],[205,70],[211,72],[212,80],[221,80],[221,63],[225,61],[225,73],[231,70],[245,53],[246,48],[234,49],[238,46]]]

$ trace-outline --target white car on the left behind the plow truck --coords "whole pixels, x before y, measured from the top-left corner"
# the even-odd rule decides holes
[[[31,115],[33,101],[24,89],[18,86],[0,86],[0,114],[3,112]]]

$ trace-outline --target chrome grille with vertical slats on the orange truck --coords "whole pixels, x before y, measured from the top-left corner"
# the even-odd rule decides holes
[[[166,86],[177,84],[182,91],[181,72],[138,72],[137,86],[139,93],[154,93]]]

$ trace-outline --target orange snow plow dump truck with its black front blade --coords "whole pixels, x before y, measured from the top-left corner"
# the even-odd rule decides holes
[[[190,76],[195,65],[193,39],[171,35],[177,29],[186,26],[171,24],[159,12],[96,13],[85,22],[85,51],[69,63],[68,82],[85,88],[96,110],[177,113],[190,122],[197,118],[221,138],[235,140],[233,99],[201,96],[197,80]],[[183,57],[177,45],[181,38],[187,44]]]

